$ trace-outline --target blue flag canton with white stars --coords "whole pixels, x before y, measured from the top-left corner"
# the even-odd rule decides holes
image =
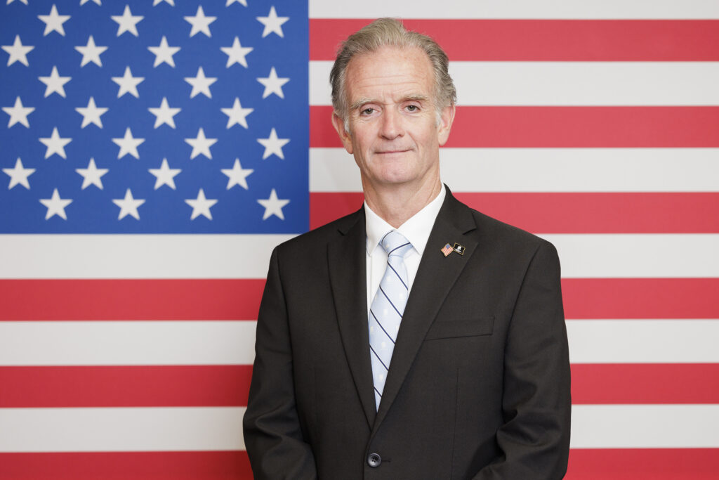
[[[1,233],[307,230],[306,2],[24,3],[0,20]]]

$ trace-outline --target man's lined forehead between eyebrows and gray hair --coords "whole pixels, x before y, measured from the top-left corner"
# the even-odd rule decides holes
[[[350,102],[359,97],[431,96],[434,76],[429,57],[417,47],[382,47],[349,61],[345,88]]]

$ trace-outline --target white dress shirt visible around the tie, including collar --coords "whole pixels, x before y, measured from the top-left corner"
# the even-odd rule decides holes
[[[408,287],[412,291],[414,278],[417,276],[419,261],[424,253],[424,248],[429,240],[429,233],[434,226],[434,220],[439,214],[439,209],[444,202],[444,185],[434,200],[430,201],[423,209],[414,214],[410,219],[400,225],[397,229],[385,222],[379,215],[372,212],[372,209],[365,201],[365,230],[367,231],[367,312],[370,311],[372,300],[375,298],[377,289],[380,288],[380,281],[385,275],[387,268],[387,252],[380,246],[380,240],[390,230],[397,230],[412,244],[412,249],[405,255],[405,266],[407,267]],[[439,245],[441,248],[444,245]]]

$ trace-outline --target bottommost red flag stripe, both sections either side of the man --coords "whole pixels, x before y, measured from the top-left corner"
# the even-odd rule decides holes
[[[602,448],[569,452],[567,480],[715,479],[717,448]],[[0,453],[0,478],[13,480],[251,480],[247,453]]]

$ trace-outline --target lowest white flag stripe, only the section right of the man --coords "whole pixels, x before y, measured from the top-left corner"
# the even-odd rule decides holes
[[[572,405],[572,448],[717,448],[719,405]]]

